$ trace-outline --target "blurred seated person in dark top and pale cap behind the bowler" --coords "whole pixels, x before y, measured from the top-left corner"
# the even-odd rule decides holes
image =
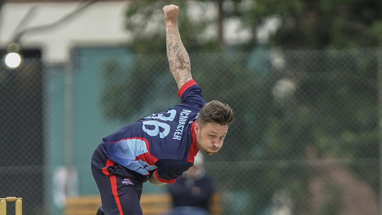
[[[194,165],[175,184],[169,185],[173,208],[166,215],[208,215],[211,198],[214,195],[214,181],[204,170],[204,159],[197,153]]]

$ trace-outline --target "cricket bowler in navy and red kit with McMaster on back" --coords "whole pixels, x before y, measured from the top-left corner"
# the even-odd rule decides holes
[[[206,103],[191,77],[189,56],[178,30],[179,7],[167,5],[163,13],[168,63],[181,103],[102,139],[91,158],[102,201],[97,215],[142,215],[139,200],[143,183],[174,183],[193,166],[199,149],[207,155],[220,150],[228,125],[235,119],[227,104]],[[194,192],[202,191],[196,188]]]

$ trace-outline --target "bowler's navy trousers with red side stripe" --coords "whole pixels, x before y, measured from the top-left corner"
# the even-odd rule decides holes
[[[139,200],[148,176],[108,160],[100,146],[93,153],[91,168],[102,201],[97,215],[142,215]]]

